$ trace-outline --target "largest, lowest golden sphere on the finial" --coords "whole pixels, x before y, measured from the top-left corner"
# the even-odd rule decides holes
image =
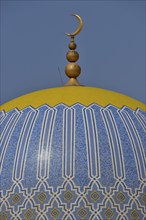
[[[65,73],[70,78],[76,78],[80,75],[81,68],[77,63],[68,63],[65,67]]]

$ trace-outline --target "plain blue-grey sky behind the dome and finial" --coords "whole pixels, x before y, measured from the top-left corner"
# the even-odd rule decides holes
[[[71,13],[84,23],[75,38],[80,83],[146,103],[145,1],[2,0],[1,104],[68,81],[64,32],[78,26]]]

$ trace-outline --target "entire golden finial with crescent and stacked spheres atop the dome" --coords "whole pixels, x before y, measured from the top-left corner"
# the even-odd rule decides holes
[[[65,67],[65,73],[70,79],[65,84],[65,86],[79,86],[80,85],[80,83],[76,79],[80,75],[81,68],[76,63],[76,61],[79,59],[79,54],[75,50],[77,45],[74,42],[74,37],[75,37],[75,35],[79,34],[80,31],[82,30],[83,22],[82,22],[82,19],[79,15],[76,15],[76,14],[72,14],[72,15],[78,19],[79,26],[74,33],[72,33],[72,34],[65,33],[67,36],[69,36],[71,38],[70,43],[68,45],[70,50],[66,54],[66,58],[70,63],[68,63]]]

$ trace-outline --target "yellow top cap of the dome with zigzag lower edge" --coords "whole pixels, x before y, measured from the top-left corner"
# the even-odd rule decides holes
[[[1,110],[5,110],[6,112],[14,108],[22,110],[28,106],[37,108],[44,104],[54,107],[60,103],[68,106],[76,103],[81,103],[85,106],[96,103],[102,107],[112,104],[118,108],[127,106],[133,110],[140,108],[146,111],[146,105],[129,96],[84,86],[59,87],[32,92],[3,104]]]

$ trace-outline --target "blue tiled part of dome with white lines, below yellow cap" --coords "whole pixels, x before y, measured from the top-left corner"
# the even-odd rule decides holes
[[[142,110],[29,106],[0,126],[0,219],[145,219]]]

